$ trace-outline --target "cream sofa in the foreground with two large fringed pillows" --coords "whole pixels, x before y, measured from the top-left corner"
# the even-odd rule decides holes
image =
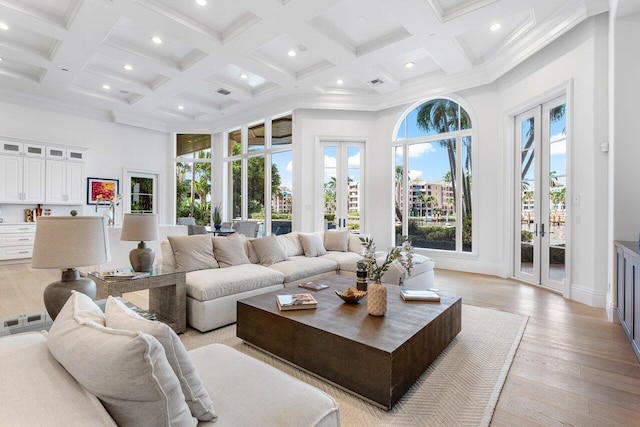
[[[0,426],[340,425],[324,392],[127,310],[74,292],[50,332],[0,338]]]

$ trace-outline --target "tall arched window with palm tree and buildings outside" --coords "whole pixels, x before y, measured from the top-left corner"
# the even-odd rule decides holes
[[[472,126],[449,99],[427,101],[402,118],[395,137],[396,243],[472,251]]]

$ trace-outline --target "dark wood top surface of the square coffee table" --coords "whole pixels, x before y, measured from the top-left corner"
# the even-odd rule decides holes
[[[400,297],[400,288],[387,287],[387,313],[381,317],[370,316],[367,311],[367,297],[358,304],[345,303],[334,290],[343,291],[356,287],[356,279],[346,276],[330,276],[314,280],[329,288],[310,291],[304,288],[286,288],[242,299],[239,304],[248,304],[254,308],[286,317],[302,324],[322,329],[334,335],[366,344],[385,352],[393,352],[418,331],[427,327],[429,322],[460,297],[440,295],[440,302],[404,301]],[[280,311],[276,304],[276,295],[310,293],[318,301],[313,310]]]

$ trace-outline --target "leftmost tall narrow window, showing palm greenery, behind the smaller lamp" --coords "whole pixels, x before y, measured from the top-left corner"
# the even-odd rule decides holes
[[[211,135],[176,136],[176,222],[211,224]]]

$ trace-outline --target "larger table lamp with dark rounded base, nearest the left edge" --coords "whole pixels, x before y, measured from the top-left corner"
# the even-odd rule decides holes
[[[42,216],[38,218],[31,266],[61,268],[62,280],[44,290],[44,305],[55,319],[72,290],[96,298],[93,280],[76,267],[111,261],[107,223],[102,216]]]

